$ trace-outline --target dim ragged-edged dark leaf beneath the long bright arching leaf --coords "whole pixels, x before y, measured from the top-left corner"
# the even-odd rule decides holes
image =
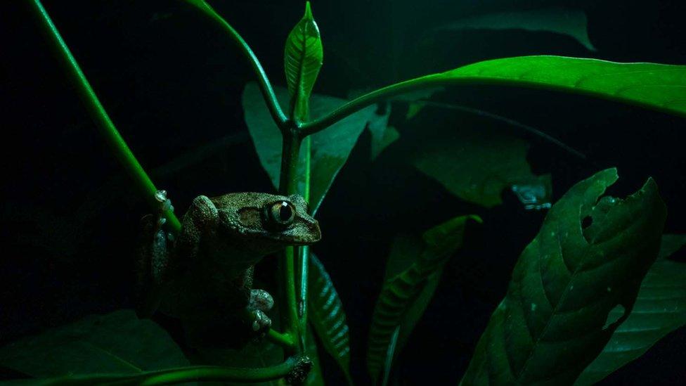
[[[546,178],[550,177],[531,173],[528,151],[529,143],[517,136],[466,125],[427,131],[409,158],[422,173],[462,200],[493,207],[503,202],[503,190],[513,186],[547,191]]]

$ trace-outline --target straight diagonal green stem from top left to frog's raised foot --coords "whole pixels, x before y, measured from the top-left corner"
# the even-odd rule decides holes
[[[93,91],[91,84],[88,82],[88,79],[86,79],[86,75],[84,75],[81,67],[79,67],[79,63],[77,63],[69,47],[67,47],[64,39],[62,39],[62,36],[51,20],[50,15],[48,15],[39,0],[33,0],[31,1],[31,4],[33,11],[35,11],[40,20],[41,27],[48,34],[53,48],[56,49],[60,60],[63,62],[63,65],[65,65],[70,77],[74,80],[79,96],[86,105],[86,109],[88,110],[91,119],[95,122],[99,133],[112,153],[115,154],[119,163],[126,169],[127,174],[129,174],[131,179],[136,183],[138,189],[145,195],[145,198],[147,198],[150,206],[153,207],[153,210],[158,210],[160,202],[155,199],[155,192],[157,192],[155,184],[150,180],[148,174],[145,173],[141,164],[136,160],[134,153],[131,153],[131,149],[129,149],[129,146],[127,146],[127,143],[124,142],[119,131],[117,131],[117,127],[115,127],[115,124],[110,119],[107,111],[105,111],[102,103],[100,103],[98,96],[96,96],[95,91]],[[179,219],[176,218],[176,215],[174,215],[174,212],[168,210],[164,213],[164,217],[167,218],[167,225],[171,231],[178,232],[181,229],[181,223],[179,222]]]

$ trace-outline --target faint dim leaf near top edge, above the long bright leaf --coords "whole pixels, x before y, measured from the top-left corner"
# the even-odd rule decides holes
[[[577,9],[551,7],[475,15],[436,27],[436,31],[450,30],[526,30],[565,34],[573,37],[590,51],[596,51],[588,39],[586,14]]]

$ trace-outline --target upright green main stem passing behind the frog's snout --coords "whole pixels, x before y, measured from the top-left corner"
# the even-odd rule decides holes
[[[298,163],[302,138],[297,131],[285,129],[283,132],[283,153],[281,154],[281,174],[279,193],[283,195],[298,192]],[[287,333],[292,334],[297,342],[297,352],[303,352],[302,339],[299,336],[298,302],[295,290],[295,257],[299,247],[287,247],[280,262],[280,274],[285,286],[286,311],[281,313],[281,324]]]

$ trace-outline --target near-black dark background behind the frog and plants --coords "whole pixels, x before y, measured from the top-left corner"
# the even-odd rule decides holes
[[[148,212],[96,135],[34,15],[23,2],[8,3],[0,15],[0,344],[86,314],[131,307],[132,251],[138,219]],[[283,84],[283,41],[302,15],[302,2],[212,4],[252,45],[273,82]],[[240,93],[252,73],[214,25],[181,1],[44,5],[122,136],[157,186],[170,192],[177,212],[198,194],[273,191],[242,120]],[[428,32],[467,15],[550,5],[583,8],[598,51],[548,32]],[[340,97],[351,89],[504,56],[551,53],[686,63],[682,1],[317,0],[313,11],[325,47],[315,91]],[[585,153],[588,160],[578,160],[525,136],[534,171],[552,172],[555,198],[604,167],[619,167],[621,180],[611,193],[630,193],[654,176],[668,205],[666,232],[686,232],[683,118],[492,86],[450,90],[439,98],[519,120]],[[421,146],[422,130],[468,124],[470,117],[427,110],[418,120],[402,123],[404,108],[394,104],[391,117],[401,122],[401,140],[375,162],[368,134],[361,136],[318,214],[324,239],[313,250],[342,297],[352,370],[365,383],[370,313],[393,236],[457,214],[480,214],[484,226],[448,264],[399,359],[403,384],[427,379],[454,384],[544,213],[524,210],[507,192],[504,205],[491,210],[469,205],[406,165],[403,155]],[[268,281],[273,262],[264,262],[259,271]],[[684,383],[685,349],[686,333],[672,333],[603,384]],[[339,382],[335,365],[324,365],[327,378]]]

